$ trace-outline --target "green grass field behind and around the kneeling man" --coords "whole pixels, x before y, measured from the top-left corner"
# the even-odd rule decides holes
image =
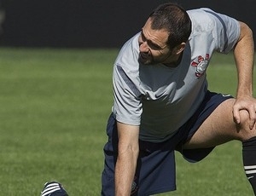
[[[116,49],[0,49],[0,195],[40,195],[58,181],[69,195],[100,195],[102,147],[112,107]],[[209,88],[235,95],[231,55],[216,55]],[[177,191],[163,195],[253,195],[241,145],[198,164],[177,154]]]

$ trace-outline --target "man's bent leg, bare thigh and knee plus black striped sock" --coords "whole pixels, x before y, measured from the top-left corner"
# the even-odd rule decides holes
[[[234,122],[234,101],[230,99],[220,104],[183,149],[214,147],[231,140],[241,141],[244,170],[256,195],[256,129],[249,129],[249,115],[245,110],[240,112],[241,124]]]

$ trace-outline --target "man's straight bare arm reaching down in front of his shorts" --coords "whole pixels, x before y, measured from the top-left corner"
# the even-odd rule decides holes
[[[115,166],[115,195],[131,195],[131,184],[134,179],[139,153],[139,126],[117,123],[119,146]]]

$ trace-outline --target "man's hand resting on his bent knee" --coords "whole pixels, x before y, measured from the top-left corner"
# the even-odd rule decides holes
[[[246,110],[249,114],[249,128],[256,129],[256,99],[253,96],[245,96],[236,98],[233,106],[233,117],[237,124],[241,123],[240,111]]]

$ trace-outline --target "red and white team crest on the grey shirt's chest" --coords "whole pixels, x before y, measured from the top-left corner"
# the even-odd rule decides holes
[[[191,66],[195,66],[195,76],[201,77],[207,70],[209,64],[210,55],[206,54],[205,57],[199,55],[195,61],[191,63]]]

